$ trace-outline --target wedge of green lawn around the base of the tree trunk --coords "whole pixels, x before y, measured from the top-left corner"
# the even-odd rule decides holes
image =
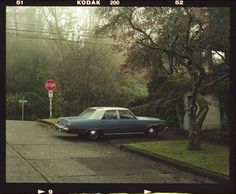
[[[229,149],[227,147],[202,143],[201,151],[188,151],[187,145],[188,141],[177,140],[132,143],[126,146],[229,176]]]

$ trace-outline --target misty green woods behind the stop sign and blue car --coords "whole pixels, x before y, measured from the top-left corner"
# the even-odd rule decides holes
[[[8,8],[8,119],[19,118],[15,109],[24,97],[26,119],[48,116],[47,79],[57,83],[53,116],[75,115],[89,106],[126,106],[146,94],[138,76],[120,72],[123,57],[112,50],[111,40],[94,34],[94,17],[81,19],[71,9]]]

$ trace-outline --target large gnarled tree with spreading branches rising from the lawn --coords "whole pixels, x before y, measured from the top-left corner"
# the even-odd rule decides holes
[[[164,70],[170,77],[186,77],[191,93],[188,149],[200,150],[209,109],[200,92],[228,78],[228,71],[213,73],[212,51],[229,66],[229,9],[133,7],[98,12],[103,16],[98,32],[113,37],[118,50],[127,50],[128,66],[149,68],[156,76]]]

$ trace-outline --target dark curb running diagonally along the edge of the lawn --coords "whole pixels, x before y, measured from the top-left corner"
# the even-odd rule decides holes
[[[146,158],[149,158],[155,161],[164,162],[165,164],[171,165],[175,168],[185,170],[199,176],[204,176],[220,183],[229,183],[229,177],[227,176],[224,176],[224,175],[221,175],[221,174],[218,174],[218,173],[215,173],[215,172],[212,172],[212,171],[200,168],[200,167],[189,165],[184,162],[170,159],[170,158],[158,155],[158,154],[153,154],[147,151],[139,150],[137,148],[131,148],[128,145],[120,145],[120,149],[144,156]]]

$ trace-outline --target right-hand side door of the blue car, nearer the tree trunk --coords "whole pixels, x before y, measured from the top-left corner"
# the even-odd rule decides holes
[[[143,133],[145,124],[136,119],[129,110],[119,110],[118,113],[120,133]]]

